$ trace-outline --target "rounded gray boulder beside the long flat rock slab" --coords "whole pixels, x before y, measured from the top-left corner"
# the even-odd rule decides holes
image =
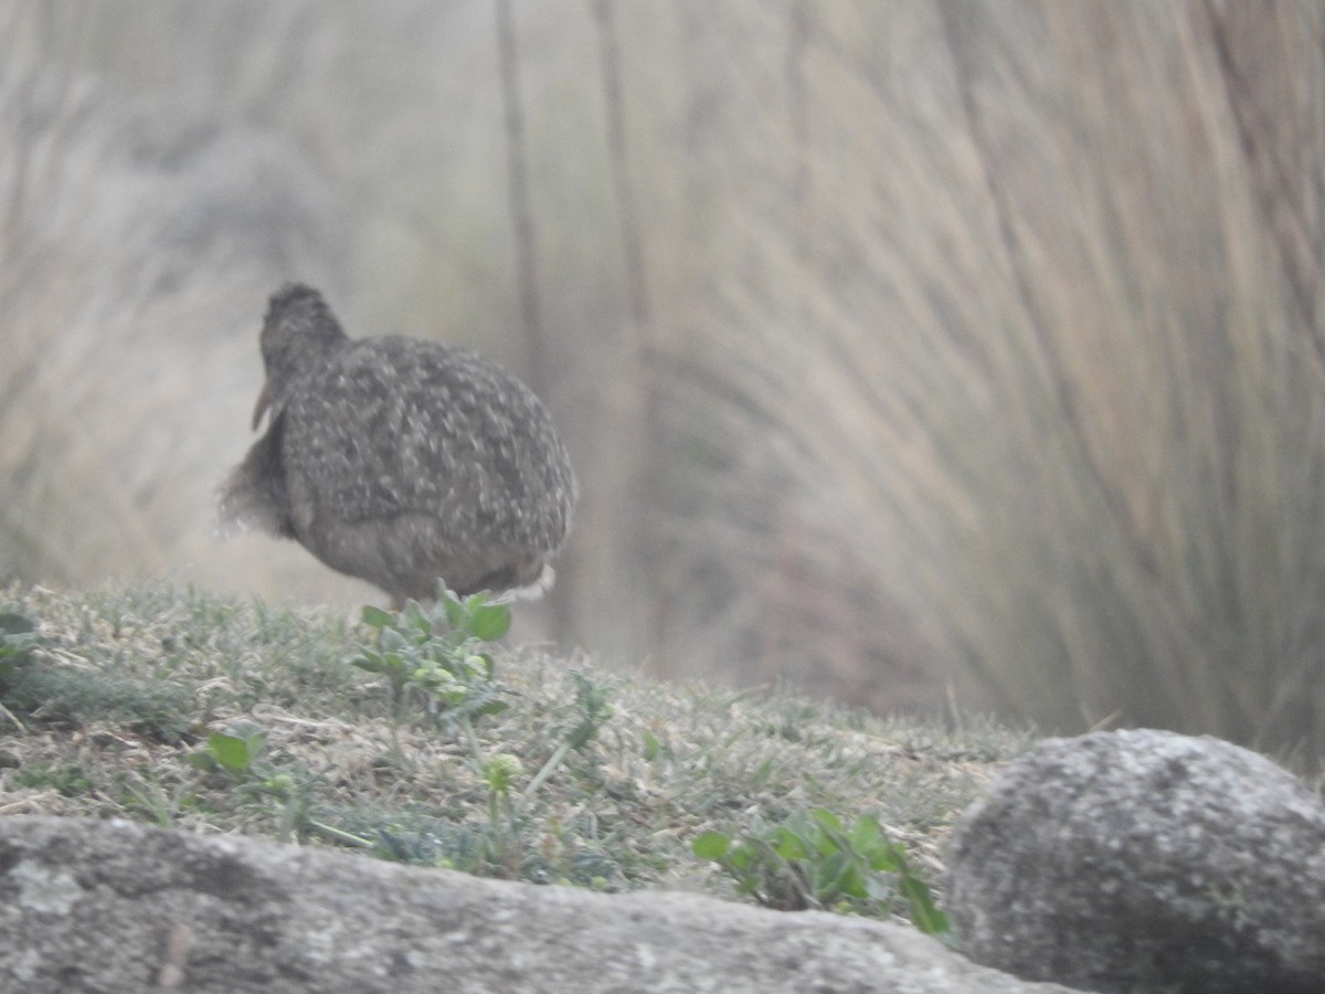
[[[1215,738],[1048,740],[962,816],[973,960],[1093,991],[1325,990],[1325,807]]]

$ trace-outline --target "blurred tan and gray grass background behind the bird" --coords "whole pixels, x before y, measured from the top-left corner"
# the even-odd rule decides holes
[[[1325,7],[0,13],[0,579],[216,545],[284,278],[477,346],[582,480],[526,637],[1325,753]]]

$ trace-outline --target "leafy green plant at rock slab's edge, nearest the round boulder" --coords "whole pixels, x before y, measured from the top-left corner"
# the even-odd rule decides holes
[[[741,838],[710,830],[692,850],[721,865],[737,891],[779,911],[853,911],[878,916],[905,903],[925,933],[946,936],[947,917],[878,822],[860,816],[848,830],[827,808],[798,811],[780,824],[755,822]]]

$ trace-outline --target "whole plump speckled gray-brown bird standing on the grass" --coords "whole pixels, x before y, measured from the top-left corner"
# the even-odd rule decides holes
[[[541,591],[575,478],[547,408],[494,362],[437,342],[350,339],[288,284],[262,323],[266,432],[221,488],[223,527],[293,538],[399,604],[437,582]]]

